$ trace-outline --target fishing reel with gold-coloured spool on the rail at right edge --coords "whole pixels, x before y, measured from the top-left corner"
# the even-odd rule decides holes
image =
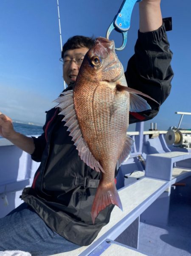
[[[170,127],[165,136],[168,145],[175,147],[191,148],[191,135],[182,133],[177,127]]]

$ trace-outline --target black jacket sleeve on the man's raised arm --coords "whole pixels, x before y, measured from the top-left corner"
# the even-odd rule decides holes
[[[171,91],[173,71],[172,52],[166,31],[171,30],[171,18],[163,19],[163,25],[152,32],[138,31],[135,54],[130,58],[125,72],[127,85],[154,98],[160,105]],[[151,110],[129,112],[129,124],[147,121],[157,115],[160,105],[145,98]]]

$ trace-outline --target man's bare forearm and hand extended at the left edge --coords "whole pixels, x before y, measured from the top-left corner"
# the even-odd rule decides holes
[[[29,138],[19,132],[16,132],[13,128],[13,123],[11,118],[6,115],[3,115],[0,112],[0,135],[3,138],[8,139],[14,145],[19,147],[21,150],[32,154],[34,152],[34,140],[33,138]]]

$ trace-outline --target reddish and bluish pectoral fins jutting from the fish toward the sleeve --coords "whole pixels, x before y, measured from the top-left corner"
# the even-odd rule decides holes
[[[151,99],[152,101],[155,101],[153,98],[151,98],[149,95],[140,92],[138,90],[132,89],[130,87],[127,86],[122,86],[120,84],[116,85],[116,89],[118,91],[127,91],[129,92],[129,101],[130,101],[130,105],[129,105],[129,111],[130,112],[142,112],[144,110],[148,110],[151,109],[150,105],[146,102],[146,100],[144,100],[143,98],[141,98],[139,95],[142,95],[146,98]],[[157,101],[155,101],[157,104],[159,104]]]

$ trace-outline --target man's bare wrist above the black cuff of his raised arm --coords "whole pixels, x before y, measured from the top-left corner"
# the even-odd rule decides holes
[[[139,3],[140,32],[154,31],[163,24],[160,0],[142,0]]]

